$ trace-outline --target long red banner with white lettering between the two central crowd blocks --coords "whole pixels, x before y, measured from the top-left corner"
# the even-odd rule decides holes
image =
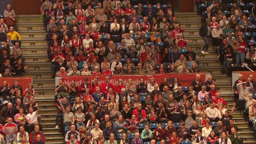
[[[199,73],[201,76],[201,80],[203,82],[206,81],[206,74],[205,73]],[[105,81],[105,76],[107,75],[99,75],[98,80],[99,84],[103,83]],[[158,85],[160,85],[163,82],[163,79],[166,77],[170,83],[174,81],[174,77],[178,77],[178,82],[181,83],[182,86],[190,86],[191,82],[195,80],[196,74],[177,74],[177,73],[169,73],[169,74],[155,74],[155,75],[112,75],[110,78],[110,81],[112,82],[113,85],[117,85],[118,79],[122,79],[124,85],[126,84],[128,79],[133,80],[134,85],[140,84],[140,79],[144,78],[145,84],[147,85],[149,83],[149,80],[151,77],[155,78],[155,81]],[[61,76],[61,77],[56,77],[56,84],[59,85],[58,81],[59,79],[63,79],[66,85],[70,84],[71,80],[76,81],[76,85],[82,85],[83,79],[88,78],[89,83],[93,81],[95,76]]]

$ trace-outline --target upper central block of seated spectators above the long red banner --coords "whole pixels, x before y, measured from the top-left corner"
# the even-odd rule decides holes
[[[171,4],[132,3],[43,2],[52,78],[199,72],[196,55],[183,38]]]

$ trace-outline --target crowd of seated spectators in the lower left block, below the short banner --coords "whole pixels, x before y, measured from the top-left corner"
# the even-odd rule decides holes
[[[32,84],[22,87],[17,79],[0,86],[0,144],[44,144]]]

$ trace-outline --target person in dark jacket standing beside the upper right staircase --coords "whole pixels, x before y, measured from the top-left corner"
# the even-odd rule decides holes
[[[203,23],[200,27],[199,36],[203,38],[205,41],[205,45],[203,46],[203,49],[201,50],[202,54],[209,54],[208,48],[210,43],[210,19],[206,20],[206,23]]]

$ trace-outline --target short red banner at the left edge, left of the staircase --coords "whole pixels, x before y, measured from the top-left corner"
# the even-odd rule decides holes
[[[27,88],[28,84],[32,84],[32,77],[0,77],[0,85],[3,85],[4,81],[12,86],[14,84],[14,80],[18,80],[18,84],[22,86],[23,90]]]

